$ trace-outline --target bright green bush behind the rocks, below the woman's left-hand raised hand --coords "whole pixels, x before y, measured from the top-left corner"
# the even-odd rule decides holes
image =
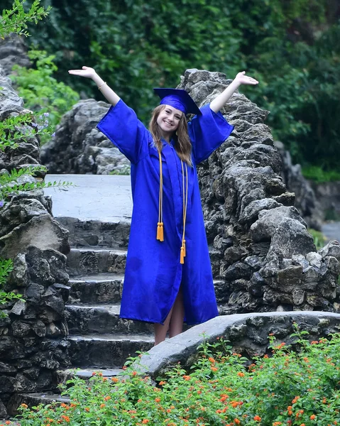
[[[31,50],[28,57],[35,62],[36,69],[15,65],[11,79],[16,82],[25,107],[38,111],[36,114],[48,113],[49,129],[55,129],[62,115],[79,101],[79,94],[53,77],[57,71],[53,62],[55,55],[48,55],[44,50]],[[42,143],[46,140],[48,138],[43,136]]]

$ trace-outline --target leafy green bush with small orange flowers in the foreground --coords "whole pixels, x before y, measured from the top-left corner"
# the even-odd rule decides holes
[[[205,343],[192,371],[177,365],[157,386],[132,359],[119,378],[69,381],[70,404],[23,405],[21,426],[339,424],[340,336],[309,343],[306,333],[292,334],[295,351],[270,336],[270,356],[252,364],[223,339]]]

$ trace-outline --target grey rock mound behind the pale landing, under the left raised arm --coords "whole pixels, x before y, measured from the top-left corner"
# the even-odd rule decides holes
[[[96,129],[108,110],[109,104],[87,99],[62,117],[53,140],[41,148],[41,162],[49,173],[128,174],[130,162]]]

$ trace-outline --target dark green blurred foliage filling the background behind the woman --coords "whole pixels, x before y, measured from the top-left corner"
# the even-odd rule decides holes
[[[5,1],[6,3],[6,1]],[[43,0],[52,5],[32,40],[55,55],[56,76],[88,97],[93,84],[67,74],[89,65],[147,121],[152,87],[173,87],[186,68],[260,84],[246,94],[270,110],[275,138],[293,160],[336,169],[340,154],[340,30],[327,0]],[[334,18],[333,18],[334,16]],[[244,90],[244,89],[242,89]]]

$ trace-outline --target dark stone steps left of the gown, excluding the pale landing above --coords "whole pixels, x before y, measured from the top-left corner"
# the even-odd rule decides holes
[[[113,230],[114,224],[102,223],[104,232],[111,229],[111,246],[107,247],[79,246],[79,241],[86,244],[96,239],[105,243],[105,236],[97,234],[96,221],[79,221],[77,226],[72,223],[75,219],[59,218],[58,222],[70,230],[70,241],[75,241],[67,256],[71,290],[65,307],[72,366],[116,371],[128,356],[153,346],[151,324],[119,318],[127,251],[124,231],[128,235],[129,224]],[[76,234],[72,234],[74,229]]]

